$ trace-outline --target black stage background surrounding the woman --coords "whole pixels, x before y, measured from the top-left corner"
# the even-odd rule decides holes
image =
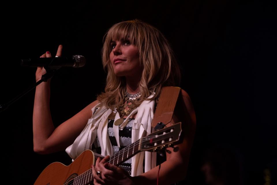
[[[113,24],[141,19],[171,43],[182,66],[181,88],[192,99],[197,130],[183,184],[205,184],[205,151],[222,146],[236,153],[244,184],[265,184],[276,172],[276,19],[266,1],[19,2],[2,6],[0,103],[35,83],[36,58],[63,44],[63,56],[87,58],[83,68],[61,69],[51,80],[55,126],[96,99],[104,89],[100,50]],[[2,169],[11,184],[33,184],[42,170],[71,160],[61,151],[33,152],[35,91],[0,113]],[[275,161],[274,161],[275,160]],[[275,164],[275,165],[274,165]],[[7,176],[6,176],[7,175]],[[270,175],[269,175],[270,176]],[[268,182],[268,181],[267,181]]]

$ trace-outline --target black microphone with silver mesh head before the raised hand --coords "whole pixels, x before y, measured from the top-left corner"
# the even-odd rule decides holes
[[[47,67],[47,68],[60,68],[60,67],[83,67],[86,64],[86,58],[81,55],[74,55],[68,57],[54,57],[54,58],[35,58],[35,59],[22,59],[21,66],[25,67]]]

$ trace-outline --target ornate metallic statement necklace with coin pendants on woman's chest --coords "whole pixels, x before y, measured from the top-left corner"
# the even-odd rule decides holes
[[[134,95],[129,94],[127,90],[124,92],[124,102],[117,108],[117,112],[119,112],[120,119],[115,121],[115,125],[121,125],[123,123],[124,116],[129,116],[130,113],[135,110],[138,106],[134,105],[135,101],[138,101],[139,97],[141,96],[141,92],[138,92]],[[130,103],[130,104],[129,104]]]

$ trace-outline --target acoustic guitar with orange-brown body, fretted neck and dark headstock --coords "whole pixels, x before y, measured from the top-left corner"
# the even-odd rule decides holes
[[[109,163],[119,166],[141,151],[154,152],[166,149],[167,147],[173,147],[173,143],[179,141],[181,132],[181,122],[153,132],[110,156]],[[86,150],[69,166],[65,166],[60,162],[54,162],[42,171],[34,185],[93,184],[91,165],[95,163],[95,156],[99,156],[99,154]]]

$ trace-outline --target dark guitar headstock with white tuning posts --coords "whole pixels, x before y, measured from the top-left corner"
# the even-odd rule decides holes
[[[160,129],[146,137],[141,138],[139,150],[156,151],[157,149],[170,147],[172,143],[179,141],[181,132],[181,122],[170,127]]]

